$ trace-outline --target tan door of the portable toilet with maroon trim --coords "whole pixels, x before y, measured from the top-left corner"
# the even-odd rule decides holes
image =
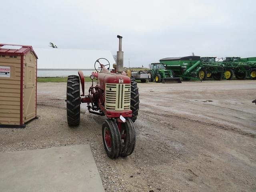
[[[36,116],[36,63],[33,54],[25,59],[24,122]]]

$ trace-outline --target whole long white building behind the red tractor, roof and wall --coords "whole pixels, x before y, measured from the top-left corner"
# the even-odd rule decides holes
[[[115,63],[110,51],[81,50],[60,48],[34,48],[38,56],[38,77],[64,77],[77,75],[82,70],[85,76],[90,76],[94,63],[98,58],[106,58],[110,68]]]

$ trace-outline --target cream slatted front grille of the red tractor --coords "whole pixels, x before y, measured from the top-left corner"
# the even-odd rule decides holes
[[[130,109],[131,84],[106,83],[105,106],[106,110],[124,111]]]

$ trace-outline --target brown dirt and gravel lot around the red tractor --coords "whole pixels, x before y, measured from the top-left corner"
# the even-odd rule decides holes
[[[86,90],[90,83],[86,83]],[[0,128],[0,152],[90,143],[107,192],[255,192],[255,80],[138,83],[136,148],[111,160],[105,117],[82,104],[80,126],[66,121],[66,83],[38,83],[39,119]]]

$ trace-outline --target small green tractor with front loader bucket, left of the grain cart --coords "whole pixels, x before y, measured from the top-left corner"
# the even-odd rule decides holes
[[[174,72],[172,70],[166,70],[166,64],[164,63],[152,63],[150,73],[150,82],[157,83],[181,83],[179,77],[174,77]]]

